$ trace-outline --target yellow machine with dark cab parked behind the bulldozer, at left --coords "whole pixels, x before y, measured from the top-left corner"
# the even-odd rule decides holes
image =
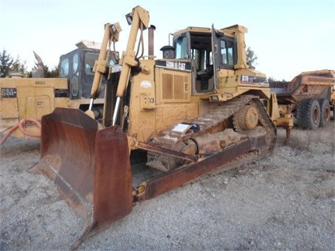
[[[119,24],[113,26],[119,29],[111,38],[115,45],[119,40],[121,28]],[[91,86],[96,77],[94,66],[101,52],[98,47],[100,44],[81,40],[76,45],[77,49],[61,55],[58,78],[44,77],[43,61],[36,52],[34,54],[38,67],[32,70],[32,78],[20,75],[0,78],[0,132],[3,134],[0,144],[3,144],[10,135],[39,138],[40,119],[43,115],[50,114],[55,107],[70,107],[83,111],[89,109]],[[101,47],[104,48],[101,55],[108,64],[110,66],[117,64],[119,54],[115,51],[115,47],[114,50],[106,48],[105,45]],[[103,113],[104,90],[96,91],[94,98],[95,103],[91,110],[98,119]]]

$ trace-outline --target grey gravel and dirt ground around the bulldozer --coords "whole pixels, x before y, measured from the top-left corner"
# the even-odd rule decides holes
[[[133,208],[78,250],[335,250],[334,121],[278,128],[274,153]],[[84,220],[45,176],[27,173],[39,142],[1,146],[0,249],[69,250]]]

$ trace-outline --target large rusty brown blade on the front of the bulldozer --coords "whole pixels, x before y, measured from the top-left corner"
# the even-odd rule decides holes
[[[42,118],[41,160],[29,172],[54,180],[62,197],[86,219],[89,236],[131,213],[131,163],[126,134],[79,109],[57,108]]]

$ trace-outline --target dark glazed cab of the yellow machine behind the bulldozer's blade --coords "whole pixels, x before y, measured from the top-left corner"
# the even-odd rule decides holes
[[[68,95],[71,100],[90,98],[91,86],[94,79],[94,63],[100,50],[79,47],[72,52],[61,55],[59,60],[59,77],[68,79]],[[117,56],[110,52],[109,65],[117,63]],[[98,98],[104,98],[104,86],[101,85]]]

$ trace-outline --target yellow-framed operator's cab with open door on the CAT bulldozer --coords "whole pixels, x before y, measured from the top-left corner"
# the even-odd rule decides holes
[[[174,33],[173,49],[174,59],[191,61],[193,95],[215,93],[218,71],[237,63],[237,40],[221,30],[188,27]]]

